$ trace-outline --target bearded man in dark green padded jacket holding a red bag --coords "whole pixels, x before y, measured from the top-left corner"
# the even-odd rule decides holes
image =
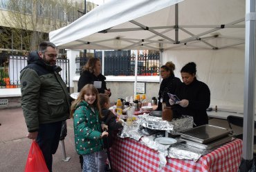
[[[62,122],[69,117],[70,96],[62,80],[62,69],[56,66],[57,47],[48,41],[31,52],[28,65],[21,70],[21,107],[29,139],[36,140],[52,171],[53,154],[57,151]]]

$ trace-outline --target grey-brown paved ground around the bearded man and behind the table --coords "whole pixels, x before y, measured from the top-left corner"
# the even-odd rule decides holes
[[[0,172],[21,172],[24,171],[31,140],[26,138],[26,125],[21,108],[1,109],[0,110]],[[210,120],[211,125],[228,128],[226,120]],[[73,124],[72,120],[67,121],[68,136],[64,142],[66,147],[66,156],[71,160],[64,162],[62,160],[61,144],[57,153],[53,156],[53,171],[81,171],[80,163],[73,142]],[[241,132],[241,129],[235,129]]]

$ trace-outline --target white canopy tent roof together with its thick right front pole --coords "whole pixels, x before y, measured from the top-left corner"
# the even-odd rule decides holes
[[[247,127],[244,127],[243,158],[251,160],[255,111],[255,19],[255,0],[246,3],[241,0],[113,0],[71,25],[51,32],[50,40],[68,49],[161,52],[220,50],[246,43],[244,126]]]

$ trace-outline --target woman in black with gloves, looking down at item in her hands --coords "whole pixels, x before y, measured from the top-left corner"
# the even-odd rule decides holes
[[[172,111],[175,114],[192,116],[196,126],[208,124],[206,109],[210,105],[209,87],[196,79],[196,63],[190,62],[181,69],[183,83],[176,91],[176,95],[181,100],[174,105],[172,99],[169,100]]]

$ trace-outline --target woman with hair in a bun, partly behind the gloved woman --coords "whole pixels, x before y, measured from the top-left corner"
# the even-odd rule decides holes
[[[160,74],[163,78],[160,89],[158,92],[159,101],[157,111],[162,111],[162,103],[170,107],[169,96],[167,93],[174,94],[177,87],[181,85],[181,80],[174,76],[175,65],[172,61],[168,61],[165,65],[161,66]]]

